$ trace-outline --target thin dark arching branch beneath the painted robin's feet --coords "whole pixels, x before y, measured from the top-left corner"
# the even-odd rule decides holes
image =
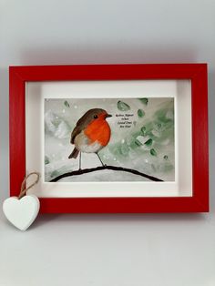
[[[156,177],[152,177],[149,176],[147,174],[141,173],[136,169],[127,169],[127,168],[122,168],[122,167],[116,167],[116,166],[101,166],[101,167],[97,167],[97,168],[91,168],[91,169],[78,169],[76,171],[72,171],[72,172],[68,172],[65,174],[62,174],[58,177],[56,177],[55,179],[50,180],[50,182],[56,182],[59,179],[63,179],[63,178],[67,178],[67,177],[71,177],[71,176],[77,176],[77,175],[82,175],[82,174],[86,174],[86,173],[91,173],[91,172],[95,172],[95,171],[99,171],[102,169],[112,169],[114,171],[124,171],[124,172],[128,172],[128,173],[132,173],[150,180],[154,180],[154,181],[163,181],[162,179],[158,179]]]

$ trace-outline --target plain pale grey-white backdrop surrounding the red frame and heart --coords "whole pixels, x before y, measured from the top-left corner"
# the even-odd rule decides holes
[[[8,66],[209,63],[210,214],[0,220],[1,286],[215,285],[215,1],[0,0],[0,193],[8,196]]]

